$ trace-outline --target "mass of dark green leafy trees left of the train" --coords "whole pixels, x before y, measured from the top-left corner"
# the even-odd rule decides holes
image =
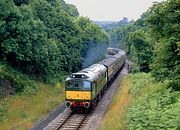
[[[83,32],[78,15],[63,0],[1,0],[0,59],[46,82],[78,71],[85,39],[108,42],[107,34],[90,20]]]

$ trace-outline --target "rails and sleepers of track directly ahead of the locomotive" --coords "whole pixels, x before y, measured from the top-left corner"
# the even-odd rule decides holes
[[[43,130],[81,130],[86,127],[90,119],[89,114],[73,113],[70,109],[65,109],[51,124]]]

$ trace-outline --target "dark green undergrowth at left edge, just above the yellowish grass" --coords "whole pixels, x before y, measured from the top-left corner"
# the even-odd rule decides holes
[[[15,92],[36,94],[38,87],[27,75],[17,72],[5,63],[0,63],[0,90],[2,91],[0,97],[4,97]]]

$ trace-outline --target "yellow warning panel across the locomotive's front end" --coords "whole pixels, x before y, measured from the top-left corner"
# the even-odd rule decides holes
[[[91,92],[88,92],[88,91],[66,91],[66,99],[90,100]]]

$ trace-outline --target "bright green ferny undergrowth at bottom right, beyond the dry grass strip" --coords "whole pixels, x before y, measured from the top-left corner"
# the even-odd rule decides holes
[[[131,75],[134,102],[128,110],[128,129],[179,129],[180,96],[167,83],[153,83],[146,74]]]

